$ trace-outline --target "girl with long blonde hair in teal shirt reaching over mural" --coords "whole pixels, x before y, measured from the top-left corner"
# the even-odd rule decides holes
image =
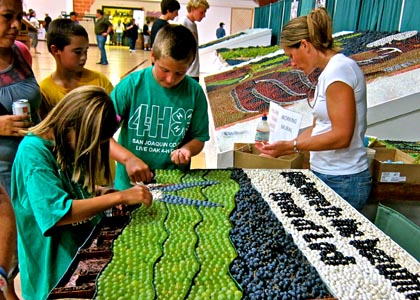
[[[104,194],[96,185],[103,168],[111,183],[109,139],[117,128],[106,91],[83,86],[69,92],[20,144],[12,204],[25,300],[47,298],[105,210],[152,203],[144,186]]]

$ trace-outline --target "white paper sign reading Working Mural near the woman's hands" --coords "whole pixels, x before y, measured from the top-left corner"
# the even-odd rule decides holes
[[[290,141],[298,136],[302,114],[270,102],[268,117],[270,124],[270,143],[280,140]]]

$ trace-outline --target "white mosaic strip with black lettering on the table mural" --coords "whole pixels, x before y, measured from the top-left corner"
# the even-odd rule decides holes
[[[420,298],[420,263],[311,171],[244,171],[335,297]],[[287,181],[292,173],[304,178],[301,190]],[[305,182],[326,201],[305,196]]]

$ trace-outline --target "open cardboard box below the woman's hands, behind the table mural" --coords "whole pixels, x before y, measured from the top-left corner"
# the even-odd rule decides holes
[[[303,154],[296,153],[278,158],[259,156],[254,144],[235,143],[233,166],[243,169],[302,169]]]

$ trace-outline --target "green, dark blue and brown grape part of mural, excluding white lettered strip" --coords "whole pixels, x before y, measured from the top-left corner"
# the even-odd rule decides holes
[[[64,276],[50,299],[330,296],[316,270],[242,171],[157,170],[156,181],[156,186],[150,186],[154,198],[158,197],[152,207],[131,211],[124,226],[119,223],[117,232],[111,230],[115,233],[112,244],[100,246],[95,238],[82,247],[79,254],[90,252],[94,259],[70,267],[71,274]],[[176,197],[162,201],[165,195]],[[107,229],[102,236],[109,232]],[[99,250],[107,257],[100,264]],[[78,258],[75,261],[80,263]],[[299,282],[306,277],[313,280],[301,288]]]

